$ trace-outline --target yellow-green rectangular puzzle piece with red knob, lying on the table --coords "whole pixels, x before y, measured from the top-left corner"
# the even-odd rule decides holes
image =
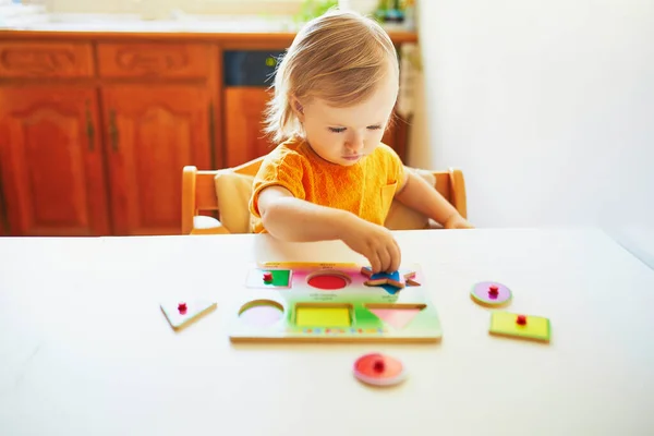
[[[520,315],[504,311],[491,313],[491,335],[549,342],[549,319],[542,316]]]

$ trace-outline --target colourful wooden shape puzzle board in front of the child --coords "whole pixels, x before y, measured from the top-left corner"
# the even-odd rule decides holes
[[[435,341],[438,314],[419,265],[395,279],[403,288],[368,286],[379,277],[355,264],[253,265],[230,326],[232,341]],[[384,279],[385,277],[382,277]],[[410,278],[407,280],[407,278]]]

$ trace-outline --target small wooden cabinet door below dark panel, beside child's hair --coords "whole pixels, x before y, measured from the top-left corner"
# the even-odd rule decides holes
[[[225,89],[227,167],[256,159],[275,147],[264,136],[264,112],[270,97],[268,89],[261,87]]]

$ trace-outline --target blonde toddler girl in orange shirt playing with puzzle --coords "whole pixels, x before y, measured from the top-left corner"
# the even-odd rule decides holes
[[[267,128],[279,145],[254,179],[254,231],[342,240],[374,272],[390,272],[401,263],[384,227],[393,198],[446,228],[470,228],[382,143],[398,90],[398,57],[376,22],[342,11],[308,22],[276,72]]]

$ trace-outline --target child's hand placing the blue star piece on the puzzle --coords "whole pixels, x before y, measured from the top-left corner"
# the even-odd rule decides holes
[[[368,259],[373,274],[397,271],[402,256],[390,230],[356,216],[350,218],[342,241]]]

